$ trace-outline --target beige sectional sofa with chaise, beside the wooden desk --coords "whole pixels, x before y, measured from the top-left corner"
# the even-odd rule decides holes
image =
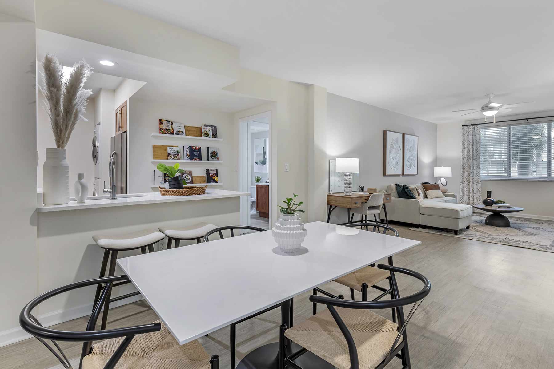
[[[421,184],[408,184],[417,186],[423,194],[423,200],[398,198],[396,186],[389,184],[384,193],[392,194],[392,202],[387,204],[388,220],[411,223],[416,226],[429,226],[447,228],[457,235],[461,228],[469,228],[473,208],[469,205],[458,204],[456,194],[444,193],[444,198],[429,199],[425,195]],[[381,210],[381,219],[384,219],[384,211]]]

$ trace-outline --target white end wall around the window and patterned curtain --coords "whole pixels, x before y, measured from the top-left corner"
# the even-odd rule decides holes
[[[497,118],[498,121],[532,117],[554,116],[554,111],[526,113]],[[439,124],[437,131],[437,165],[452,167],[452,178],[448,178],[448,190],[460,191],[461,171],[461,126],[463,124],[483,123],[484,119],[450,124]],[[493,191],[494,199],[501,199],[511,205],[521,206],[525,211],[517,216],[554,220],[554,193],[552,182],[529,180],[481,180],[483,198],[486,191]]]

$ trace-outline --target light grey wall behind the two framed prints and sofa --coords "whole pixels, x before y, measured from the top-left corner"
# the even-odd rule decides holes
[[[419,136],[418,175],[383,176],[384,129]],[[433,177],[433,168],[437,162],[437,124],[435,123],[327,93],[326,132],[327,160],[340,157],[360,158],[360,184],[366,188],[384,189],[391,183],[435,181]],[[327,190],[329,190],[328,177]],[[337,207],[332,215],[332,222],[346,221],[345,209]]]

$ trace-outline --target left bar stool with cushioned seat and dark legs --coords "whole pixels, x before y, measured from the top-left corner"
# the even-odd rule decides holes
[[[119,251],[137,250],[140,248],[140,251],[143,254],[146,253],[146,249],[148,249],[148,252],[154,252],[154,243],[163,240],[163,233],[158,232],[155,229],[146,229],[122,235],[94,235],[93,240],[96,242],[96,245],[104,249],[104,258],[102,259],[102,266],[100,267],[100,278],[102,278],[114,275],[115,261]],[[107,276],[105,276],[108,259],[110,259],[110,268],[108,269]],[[115,283],[111,287],[117,287],[127,283],[131,283],[131,281],[126,280],[124,282]],[[104,303],[104,313],[102,314],[101,325],[102,330],[106,329],[107,312],[110,309],[110,303],[140,294],[140,292],[137,291],[111,298],[111,287],[110,291],[107,293],[106,302]],[[100,284],[96,287],[94,305],[98,302],[102,289],[104,289],[104,286]]]

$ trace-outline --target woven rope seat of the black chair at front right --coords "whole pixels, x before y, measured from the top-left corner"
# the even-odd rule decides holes
[[[398,325],[370,310],[336,310],[352,334],[360,369],[375,368],[388,355],[398,335]],[[350,369],[348,345],[329,310],[294,325],[285,331],[285,336],[331,365]]]

